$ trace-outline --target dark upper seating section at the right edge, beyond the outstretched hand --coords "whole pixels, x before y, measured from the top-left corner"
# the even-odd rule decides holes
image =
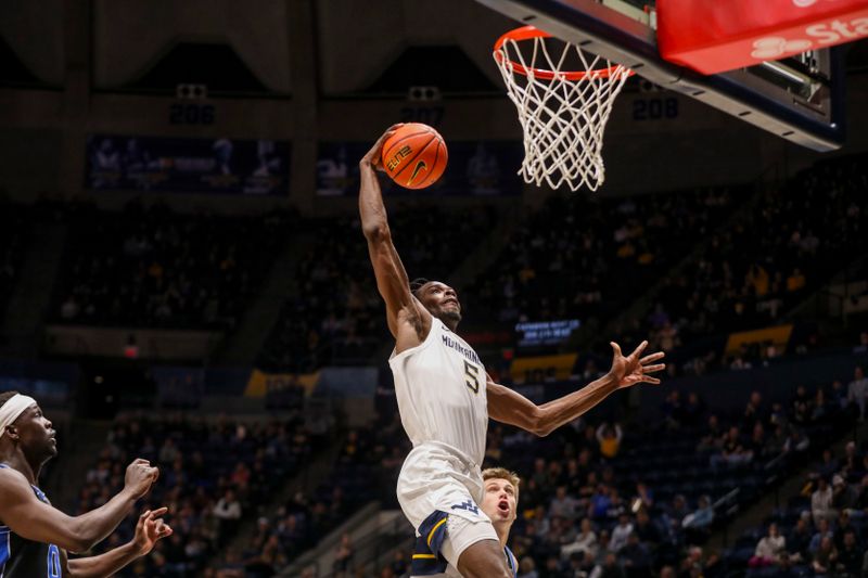
[[[780,348],[767,344],[729,356],[678,349],[700,338],[783,323],[794,306],[865,255],[866,167],[865,155],[814,165],[714,233],[690,267],[666,279],[642,324],[652,346],[673,354],[679,371],[738,369],[779,356]],[[816,346],[810,339],[794,345]]]

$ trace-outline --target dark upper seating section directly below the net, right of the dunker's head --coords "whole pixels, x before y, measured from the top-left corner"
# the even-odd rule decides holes
[[[604,323],[711,234],[746,196],[700,190],[601,200],[547,200],[468,291],[489,323]]]

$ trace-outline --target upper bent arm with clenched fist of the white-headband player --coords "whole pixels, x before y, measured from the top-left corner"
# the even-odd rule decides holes
[[[53,543],[71,552],[84,552],[100,542],[129,514],[157,477],[146,460],[127,467],[124,489],[104,505],[80,516],[67,516],[34,494],[27,479],[10,468],[0,470],[0,519],[10,529],[35,542]]]

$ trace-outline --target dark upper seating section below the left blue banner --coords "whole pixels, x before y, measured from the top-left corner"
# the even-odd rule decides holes
[[[52,319],[60,323],[232,330],[294,217],[184,215],[130,203],[71,221]]]

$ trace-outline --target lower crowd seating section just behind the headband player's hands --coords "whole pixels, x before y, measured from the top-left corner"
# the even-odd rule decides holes
[[[78,511],[99,506],[119,491],[126,465],[135,458],[158,464],[161,477],[139,509],[169,506],[175,534],[118,576],[199,576],[219,560],[241,522],[255,518],[258,508],[270,503],[282,484],[318,451],[317,438],[303,422],[301,413],[257,423],[225,418],[118,419],[87,473]],[[239,510],[233,512],[235,501]],[[137,517],[122,524],[100,551],[129,540]],[[286,538],[295,540],[293,535]]]

